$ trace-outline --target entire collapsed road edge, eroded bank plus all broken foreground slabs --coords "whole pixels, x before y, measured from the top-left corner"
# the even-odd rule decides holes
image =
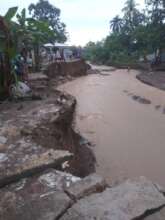
[[[38,77],[41,100],[0,105],[0,220],[164,220],[158,184],[139,177],[110,187],[95,174],[92,147],[74,130],[76,100]]]

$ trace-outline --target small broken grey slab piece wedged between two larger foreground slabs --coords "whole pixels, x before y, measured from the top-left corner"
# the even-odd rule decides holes
[[[67,194],[73,199],[78,200],[95,192],[102,192],[106,188],[106,181],[97,174],[91,174],[84,179],[75,182],[66,188]]]

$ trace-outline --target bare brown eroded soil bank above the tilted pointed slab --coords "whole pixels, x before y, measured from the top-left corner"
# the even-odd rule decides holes
[[[63,76],[63,80],[60,78],[58,81],[57,77],[54,83],[50,75],[48,78],[43,77],[42,74],[38,74],[38,77],[31,75],[29,84],[34,93],[40,95],[42,99],[2,102],[0,129],[1,131],[6,129],[1,135],[7,138],[9,146],[23,138],[25,142],[35,143],[41,148],[67,150],[73,153],[73,159],[69,164],[59,169],[84,177],[95,172],[95,157],[89,142],[84,141],[85,139],[73,128],[76,100],[70,95],[57,91],[55,87],[56,84],[71,79],[73,77],[66,75]],[[13,134],[10,135],[9,133],[12,132]],[[4,147],[0,144],[0,153],[6,153]]]

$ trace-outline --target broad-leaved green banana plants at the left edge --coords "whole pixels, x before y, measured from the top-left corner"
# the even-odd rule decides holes
[[[39,48],[46,43],[54,32],[43,21],[36,21],[26,17],[26,10],[20,14],[18,8],[10,8],[5,16],[0,16],[0,90],[7,93],[12,80],[17,77],[12,68],[12,59],[24,45],[27,49],[33,48],[35,52],[36,70],[40,66]],[[12,21],[16,15],[17,22]],[[22,45],[23,44],[23,45]]]

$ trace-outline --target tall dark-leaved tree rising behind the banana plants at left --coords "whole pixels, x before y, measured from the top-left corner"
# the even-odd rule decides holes
[[[47,0],[39,0],[37,4],[29,6],[29,12],[36,20],[47,22],[54,31],[55,37],[50,38],[50,42],[65,42],[67,40],[66,26],[60,20],[61,12],[59,8],[54,7]]]

